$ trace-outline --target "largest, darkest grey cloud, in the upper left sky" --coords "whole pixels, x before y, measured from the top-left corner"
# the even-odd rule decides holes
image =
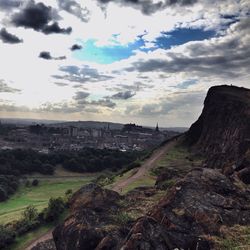
[[[71,27],[63,29],[59,27],[57,22],[50,24],[55,17],[57,17],[55,10],[50,6],[30,0],[23,9],[12,16],[12,22],[17,27],[31,28],[44,34],[71,33]]]

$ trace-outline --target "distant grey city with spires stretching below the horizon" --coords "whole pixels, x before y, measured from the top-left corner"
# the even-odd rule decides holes
[[[142,151],[178,135],[179,131],[107,122],[0,122],[0,149],[32,148],[40,153],[83,148]]]

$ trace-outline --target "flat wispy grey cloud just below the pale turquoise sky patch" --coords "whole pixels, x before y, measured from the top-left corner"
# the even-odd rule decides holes
[[[53,75],[56,79],[64,79],[70,82],[100,82],[112,79],[113,77],[99,73],[96,69],[89,66],[83,66],[82,68],[77,66],[65,66],[61,67],[62,72],[66,75]]]

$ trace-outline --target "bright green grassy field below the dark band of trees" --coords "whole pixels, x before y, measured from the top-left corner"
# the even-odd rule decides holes
[[[76,191],[81,186],[91,182],[94,176],[48,176],[36,178],[39,180],[37,187],[21,185],[10,199],[0,203],[0,223],[5,224],[19,219],[28,205],[34,205],[41,211],[47,206],[51,197],[64,196],[65,191],[68,189]]]

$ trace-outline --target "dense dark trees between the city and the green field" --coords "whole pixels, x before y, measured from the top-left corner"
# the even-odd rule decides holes
[[[145,152],[121,152],[85,148],[77,152],[42,154],[31,149],[0,151],[0,201],[6,200],[18,187],[18,176],[38,172],[51,175],[60,164],[74,172],[117,171],[145,155]]]

